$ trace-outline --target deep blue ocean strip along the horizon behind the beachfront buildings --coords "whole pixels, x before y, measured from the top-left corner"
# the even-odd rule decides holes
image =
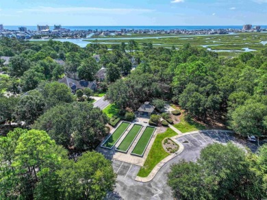
[[[18,30],[19,25],[4,25],[4,29]],[[28,30],[37,30],[37,26],[23,26],[27,27]],[[229,25],[229,26],[64,26],[62,28],[74,30],[115,30],[120,29],[153,29],[153,30],[170,30],[170,29],[186,29],[186,30],[200,30],[200,29],[242,29],[242,25]],[[254,25],[253,25],[254,27]],[[262,25],[262,28],[267,28],[267,25]],[[50,26],[53,29],[53,25]]]

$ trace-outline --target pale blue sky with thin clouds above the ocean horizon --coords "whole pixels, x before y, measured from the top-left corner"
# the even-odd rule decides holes
[[[3,25],[267,25],[267,0],[0,0]]]

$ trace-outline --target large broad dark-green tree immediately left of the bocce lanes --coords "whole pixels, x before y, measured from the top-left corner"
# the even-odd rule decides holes
[[[34,123],[47,131],[58,145],[79,150],[94,149],[105,134],[107,116],[89,103],[56,105]]]

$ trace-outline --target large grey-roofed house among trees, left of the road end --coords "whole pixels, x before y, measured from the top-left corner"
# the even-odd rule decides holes
[[[58,82],[61,84],[65,84],[68,88],[71,88],[71,92],[73,94],[76,93],[77,90],[84,90],[84,88],[90,88],[91,90],[97,90],[97,83],[96,82],[87,82],[83,80],[75,80],[69,77],[64,77],[60,79]]]

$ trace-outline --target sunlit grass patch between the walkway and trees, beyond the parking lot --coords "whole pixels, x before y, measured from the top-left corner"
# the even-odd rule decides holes
[[[184,114],[180,118],[180,123],[173,125],[175,128],[179,129],[180,132],[186,133],[186,132],[193,132],[197,130],[203,130],[206,129],[205,126],[196,123],[195,121],[191,120],[186,120],[184,118]]]

